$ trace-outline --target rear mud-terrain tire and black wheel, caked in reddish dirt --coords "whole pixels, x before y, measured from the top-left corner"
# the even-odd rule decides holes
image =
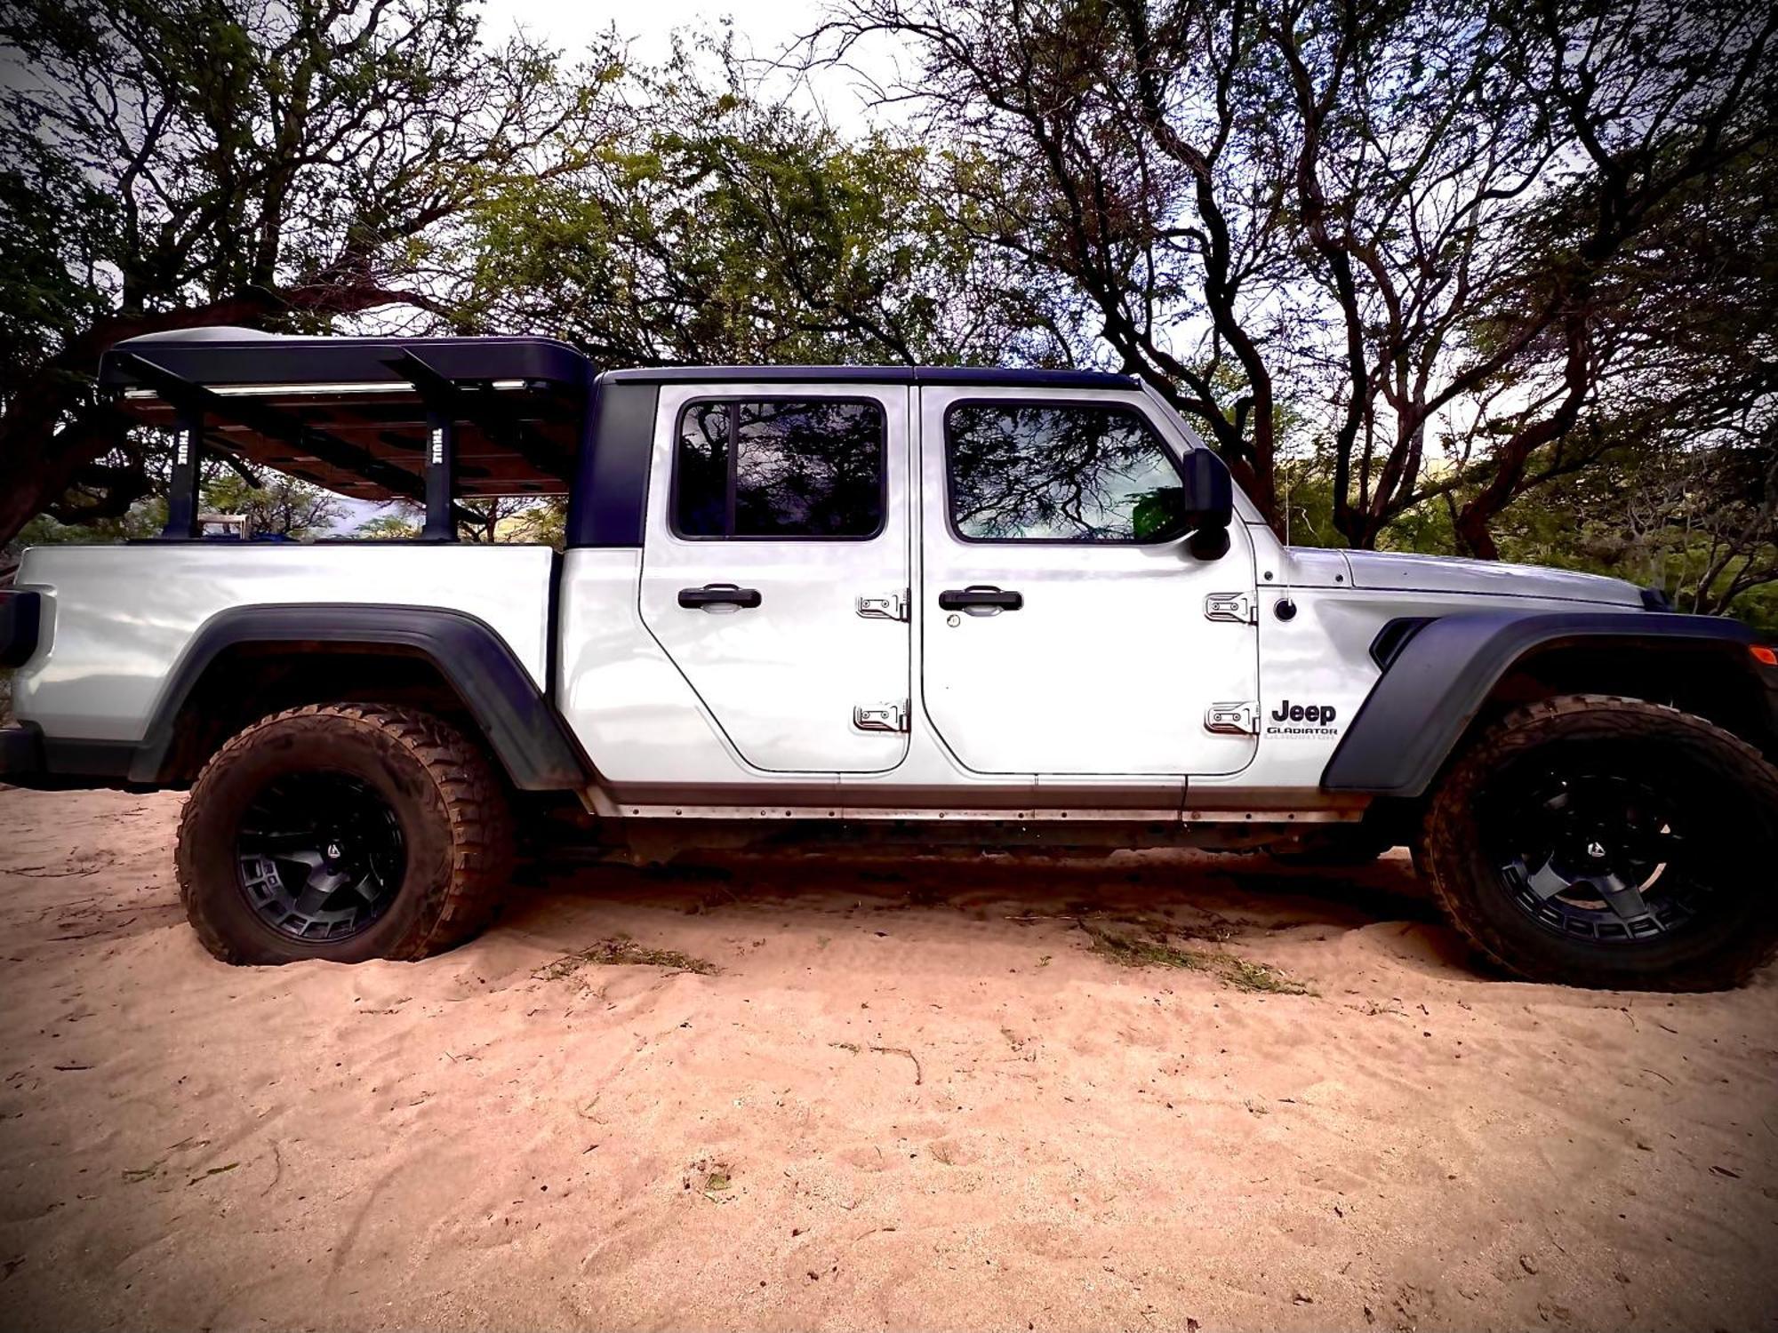
[[[185,915],[226,963],[441,953],[493,921],[510,860],[485,754],[430,713],[375,704],[236,734],[192,784],[174,853]]]

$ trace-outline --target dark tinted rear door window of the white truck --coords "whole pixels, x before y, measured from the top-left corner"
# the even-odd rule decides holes
[[[681,537],[866,539],[884,526],[884,409],[855,398],[720,398],[679,416]]]

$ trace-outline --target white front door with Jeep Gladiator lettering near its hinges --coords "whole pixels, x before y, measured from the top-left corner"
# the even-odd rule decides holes
[[[1170,444],[1134,395],[928,387],[919,412],[921,686],[958,762],[1245,768],[1253,546],[1236,523],[1221,558],[1186,549],[1182,437]]]

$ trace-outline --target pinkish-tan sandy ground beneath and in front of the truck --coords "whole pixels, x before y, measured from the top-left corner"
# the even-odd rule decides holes
[[[176,809],[0,791],[9,1328],[1778,1322],[1773,974],[1488,979],[1401,862],[1181,855],[599,869],[229,969]],[[1093,949],[1154,922],[1207,969]]]

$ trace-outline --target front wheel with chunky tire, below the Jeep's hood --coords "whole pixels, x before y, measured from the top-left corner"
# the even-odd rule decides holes
[[[1531,981],[1718,990],[1778,946],[1778,770],[1662,704],[1508,714],[1446,773],[1417,851],[1458,931]]]

